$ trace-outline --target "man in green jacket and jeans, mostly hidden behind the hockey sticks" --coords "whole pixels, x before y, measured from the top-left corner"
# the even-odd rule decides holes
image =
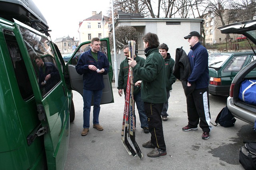
[[[129,72],[129,64],[128,64],[128,57],[129,57],[129,46],[125,45],[124,46],[124,55],[126,59],[121,62],[120,64],[120,71],[119,71],[119,76],[118,76],[118,94],[119,96],[122,96],[123,94],[123,89],[124,89],[124,94],[126,94],[126,87],[127,87],[127,79],[128,79],[128,72]],[[138,56],[134,55],[134,60],[140,65],[144,66],[145,59]],[[134,75],[133,76],[133,81],[137,82],[140,80],[138,76]],[[140,117],[140,127],[144,129],[144,133],[149,133],[148,131],[148,120],[147,120],[147,115],[144,111],[144,103],[141,100],[141,92],[140,92],[140,87],[135,86],[133,87],[133,94],[134,94],[134,102],[136,103],[139,117]],[[135,117],[135,126],[136,126],[136,117]]]

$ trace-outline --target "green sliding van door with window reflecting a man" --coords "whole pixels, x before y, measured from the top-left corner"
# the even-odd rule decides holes
[[[14,20],[18,41],[44,132],[48,169],[63,169],[69,141],[67,88],[50,41],[42,33]]]

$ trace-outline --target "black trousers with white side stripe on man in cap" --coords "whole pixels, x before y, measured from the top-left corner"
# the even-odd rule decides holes
[[[204,132],[210,132],[209,89],[195,89],[187,96],[188,126],[196,128],[198,123]],[[200,119],[200,122],[199,122]]]

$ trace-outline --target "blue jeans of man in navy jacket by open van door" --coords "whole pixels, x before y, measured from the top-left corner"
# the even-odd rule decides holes
[[[102,90],[86,90],[83,92],[83,100],[84,100],[84,128],[90,127],[90,111],[91,111],[91,103],[92,103],[92,95],[93,98],[93,124],[99,124],[99,114],[100,114],[100,101],[102,97]]]

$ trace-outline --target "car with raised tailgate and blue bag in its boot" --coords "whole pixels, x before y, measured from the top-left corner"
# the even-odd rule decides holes
[[[219,27],[221,33],[239,33],[246,36],[252,43],[254,47],[256,44],[256,20],[243,21],[238,23],[233,23],[230,25],[225,25]],[[245,66],[236,76],[234,77],[232,84],[230,86],[230,94],[227,99],[227,106],[231,113],[238,119],[245,121],[250,124],[254,124],[256,119],[256,106],[254,104],[248,104],[243,100],[239,99],[239,93],[242,82],[245,80],[256,80],[256,58],[252,58],[251,63]],[[256,100],[254,98],[254,100]]]

